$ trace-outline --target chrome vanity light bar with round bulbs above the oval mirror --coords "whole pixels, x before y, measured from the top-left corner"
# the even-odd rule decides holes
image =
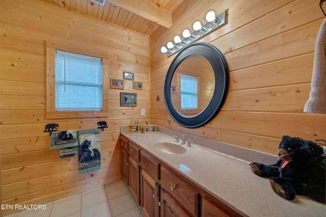
[[[196,41],[197,39],[205,36],[206,34],[212,32],[212,30],[220,27],[225,24],[225,11],[222,11],[220,14],[215,16],[214,11],[209,11],[206,14],[207,23],[201,24],[200,21],[196,21],[193,24],[194,32],[190,32],[189,29],[184,29],[182,32],[183,38],[180,36],[175,36],[173,44],[171,41],[167,43],[167,47],[161,47],[162,53],[167,53],[167,56],[170,56],[180,50],[181,48],[187,46],[188,44]]]

